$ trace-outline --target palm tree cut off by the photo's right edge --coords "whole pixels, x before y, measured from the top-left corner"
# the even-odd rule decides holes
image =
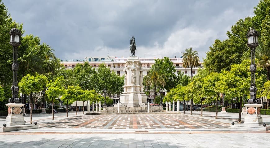
[[[255,54],[258,58],[257,65],[267,71],[267,80],[270,80],[270,51],[262,44],[257,47]],[[267,109],[269,109],[270,99],[266,100],[266,104]]]

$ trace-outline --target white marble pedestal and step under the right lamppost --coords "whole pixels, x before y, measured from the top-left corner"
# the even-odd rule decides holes
[[[263,118],[260,114],[261,104],[245,104],[247,107],[244,123],[231,125],[231,128],[247,129],[247,130],[270,130],[270,125],[263,126]]]

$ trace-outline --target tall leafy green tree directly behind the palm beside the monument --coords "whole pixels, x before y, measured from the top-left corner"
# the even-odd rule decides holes
[[[160,71],[166,76],[164,79],[166,85],[164,86],[164,88],[162,87],[161,89],[164,89],[167,92],[169,92],[171,88],[176,87],[177,83],[175,66],[168,57],[164,57],[163,59],[156,59],[155,64],[160,67]]]

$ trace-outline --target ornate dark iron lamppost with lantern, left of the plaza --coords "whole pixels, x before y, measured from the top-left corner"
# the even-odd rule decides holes
[[[12,71],[13,71],[13,82],[11,86],[11,95],[12,97],[8,99],[9,103],[21,103],[21,98],[19,98],[19,87],[18,87],[18,79],[17,79],[17,70],[19,70],[19,64],[17,62],[18,59],[18,46],[20,46],[20,30],[16,28],[12,28],[9,32],[10,42],[9,44],[13,47],[13,63],[12,63]]]

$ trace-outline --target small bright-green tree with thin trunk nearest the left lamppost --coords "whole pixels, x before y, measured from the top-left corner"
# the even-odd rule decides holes
[[[48,78],[44,75],[32,76],[27,74],[24,76],[18,86],[20,87],[20,92],[30,95],[31,109],[30,109],[30,123],[32,124],[32,110],[33,110],[33,93],[40,92],[43,90],[44,86],[47,84]]]

